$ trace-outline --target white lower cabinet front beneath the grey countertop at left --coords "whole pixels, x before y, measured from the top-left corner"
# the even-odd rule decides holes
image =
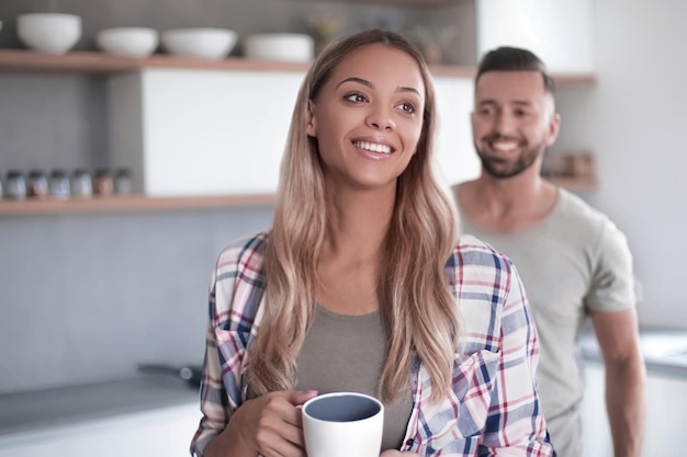
[[[196,404],[0,438],[0,457],[188,457]]]

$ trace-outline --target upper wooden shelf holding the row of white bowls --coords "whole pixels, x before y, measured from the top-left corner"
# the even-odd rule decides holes
[[[75,50],[65,55],[38,53],[25,49],[0,49],[0,71],[75,72],[109,75],[138,71],[146,68],[185,68],[200,70],[238,71],[297,71],[305,72],[309,64],[255,60],[229,57],[222,60],[196,59],[155,54],[143,59],[117,57],[100,52]],[[471,66],[430,66],[435,77],[474,78],[476,69]],[[590,84],[592,75],[554,75],[559,84]]]

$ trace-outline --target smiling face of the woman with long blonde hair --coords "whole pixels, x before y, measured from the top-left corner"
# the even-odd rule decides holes
[[[398,69],[402,77],[383,78],[388,68]],[[333,194],[342,195],[352,185],[354,192],[388,186],[388,195],[394,195],[396,178],[413,158],[421,133],[424,87],[417,62],[383,44],[359,50],[333,71],[309,104],[306,129],[317,140]]]

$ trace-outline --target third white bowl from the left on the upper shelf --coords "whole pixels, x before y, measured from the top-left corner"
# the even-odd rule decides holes
[[[161,34],[162,46],[167,52],[204,59],[226,57],[237,39],[238,33],[229,28],[173,28]]]

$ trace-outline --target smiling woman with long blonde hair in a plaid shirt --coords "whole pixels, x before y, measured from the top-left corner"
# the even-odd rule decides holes
[[[296,407],[353,390],[385,404],[385,457],[553,455],[520,279],[459,241],[435,124],[427,66],[397,34],[312,65],[273,226],[217,260],[193,454],[305,457]]]

